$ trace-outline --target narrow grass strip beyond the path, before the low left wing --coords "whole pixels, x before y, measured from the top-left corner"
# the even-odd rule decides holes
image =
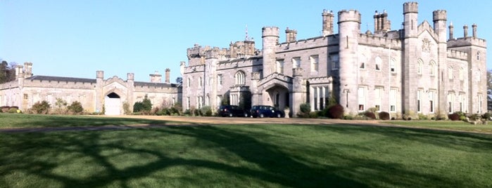
[[[165,124],[167,122],[149,119],[108,118],[105,116],[0,113],[0,128],[127,126],[134,124]]]

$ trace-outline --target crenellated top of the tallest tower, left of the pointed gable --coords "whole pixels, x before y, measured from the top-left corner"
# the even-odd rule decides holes
[[[405,38],[417,37],[417,18],[419,4],[417,2],[407,2],[403,4],[403,28],[405,29]]]

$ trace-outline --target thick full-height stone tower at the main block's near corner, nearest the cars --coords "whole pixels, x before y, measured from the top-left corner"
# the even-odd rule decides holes
[[[346,112],[358,110],[358,36],[360,35],[360,13],[339,11],[339,101]],[[349,93],[348,95],[346,95]]]

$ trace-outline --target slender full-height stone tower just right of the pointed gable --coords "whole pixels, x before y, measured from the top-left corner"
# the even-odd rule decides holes
[[[439,74],[443,76],[443,78],[448,78],[448,43],[446,41],[446,20],[447,14],[446,11],[434,11],[432,12],[432,20],[434,21],[434,32],[437,34],[437,65],[439,65]],[[439,92],[439,112],[445,113],[448,107],[448,90],[450,88],[450,83],[448,81],[442,81],[443,78],[440,78],[441,81],[438,82],[438,92]]]

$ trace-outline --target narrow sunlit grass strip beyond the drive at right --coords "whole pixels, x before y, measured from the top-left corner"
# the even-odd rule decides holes
[[[443,130],[461,130],[476,133],[492,133],[492,122],[488,125],[472,125],[465,121],[383,121],[394,125],[416,127],[416,128],[434,128]]]

